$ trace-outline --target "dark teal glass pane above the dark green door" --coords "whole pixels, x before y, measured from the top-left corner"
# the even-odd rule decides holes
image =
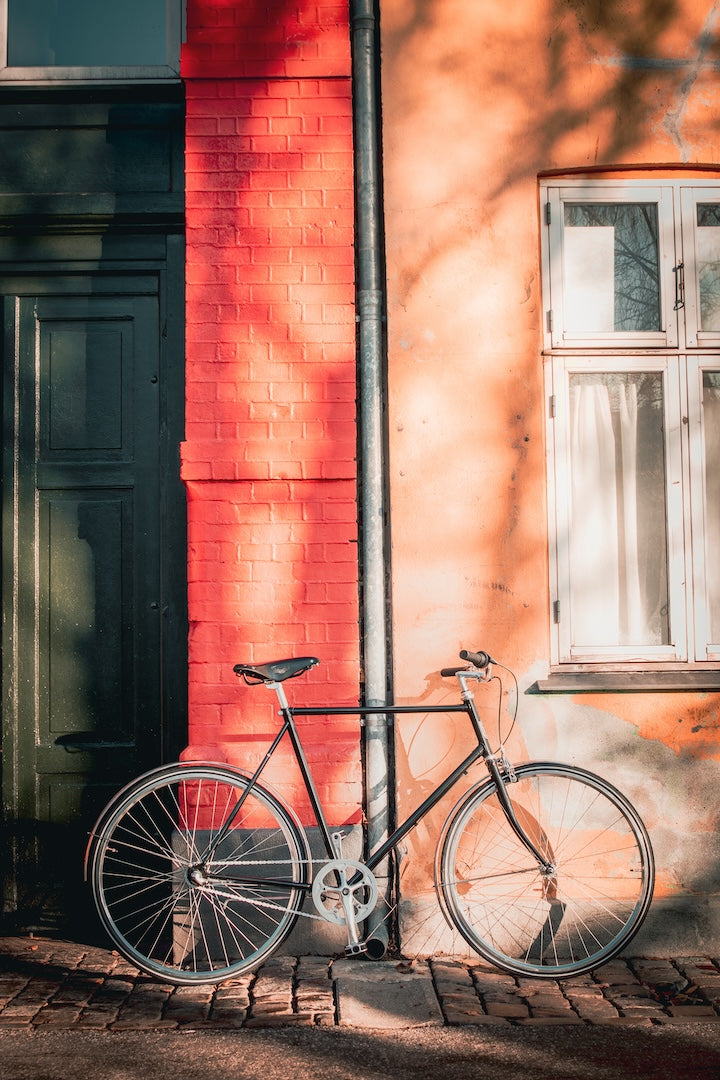
[[[8,0],[9,67],[167,64],[167,0]]]

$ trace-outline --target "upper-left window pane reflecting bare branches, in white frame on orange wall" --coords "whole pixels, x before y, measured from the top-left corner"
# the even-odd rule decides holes
[[[655,203],[565,204],[565,328],[661,329]]]

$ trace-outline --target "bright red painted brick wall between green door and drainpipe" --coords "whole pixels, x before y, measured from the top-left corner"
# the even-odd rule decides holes
[[[358,697],[349,40],[347,4],[188,2],[186,757],[243,768],[276,717],[234,662],[314,654],[291,700]],[[357,821],[358,720],[300,724]],[[271,782],[302,810],[288,755]]]

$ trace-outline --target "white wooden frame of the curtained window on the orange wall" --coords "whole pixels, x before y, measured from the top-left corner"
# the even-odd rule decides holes
[[[720,370],[720,332],[699,327],[695,221],[698,202],[720,204],[720,177],[652,183],[556,179],[541,184],[540,198],[545,226],[542,256],[553,670],[717,667],[720,643],[709,640],[706,593],[706,558],[714,556],[705,550],[702,402],[703,373]],[[656,202],[662,313],[658,334],[567,332],[562,312],[562,227],[563,203],[568,201]],[[683,276],[676,270],[679,265],[684,269]],[[641,649],[620,645],[583,647],[573,642],[570,625],[570,376],[583,372],[651,370],[661,373],[664,380],[669,643]]]

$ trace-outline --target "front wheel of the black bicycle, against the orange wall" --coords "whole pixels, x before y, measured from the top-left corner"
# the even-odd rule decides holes
[[[654,862],[637,811],[572,766],[519,766],[506,791],[553,873],[513,832],[486,781],[460,800],[438,843],[446,915],[468,945],[514,975],[580,975],[616,956],[652,899]]]

